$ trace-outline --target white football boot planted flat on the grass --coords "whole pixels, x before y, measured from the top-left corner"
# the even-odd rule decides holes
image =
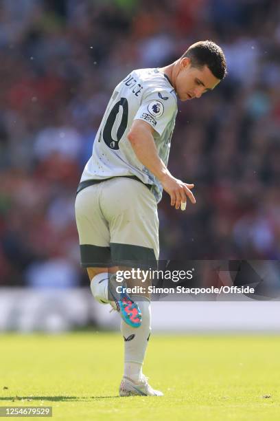
[[[148,377],[144,375],[139,382],[124,376],[119,386],[119,396],[163,396],[163,392],[152,389],[148,384]]]

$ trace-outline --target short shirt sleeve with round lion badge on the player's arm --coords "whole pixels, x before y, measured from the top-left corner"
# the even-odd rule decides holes
[[[134,120],[148,122],[161,136],[175,111],[176,101],[173,95],[160,88],[153,89],[143,98]]]

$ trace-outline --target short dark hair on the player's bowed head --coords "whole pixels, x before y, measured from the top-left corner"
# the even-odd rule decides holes
[[[226,76],[226,58],[222,48],[213,41],[192,44],[181,58],[183,57],[190,58],[192,67],[201,68],[206,65],[215,78],[222,80]]]

